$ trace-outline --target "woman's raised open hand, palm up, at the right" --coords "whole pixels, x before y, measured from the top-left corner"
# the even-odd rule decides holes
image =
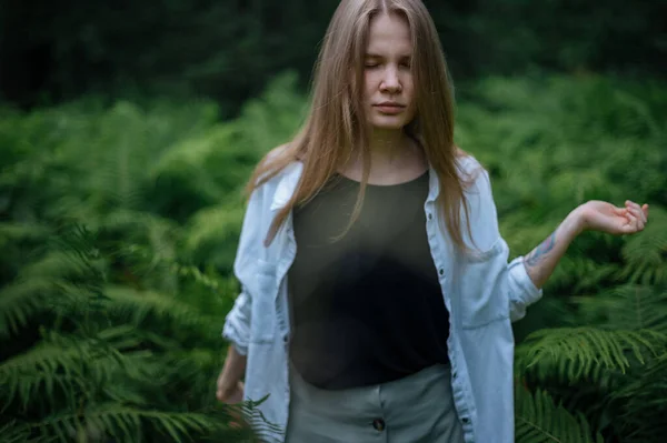
[[[600,231],[615,235],[643,231],[648,221],[648,204],[627,200],[625,208],[605,201],[591,200],[575,210],[583,230]]]

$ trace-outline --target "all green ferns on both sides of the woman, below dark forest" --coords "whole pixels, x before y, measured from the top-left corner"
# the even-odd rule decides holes
[[[287,73],[219,122],[207,102],[88,101],[0,120],[0,432],[7,441],[247,441],[216,405],[242,188],[303,119]],[[659,442],[667,430],[667,87],[488,78],[457,143],[489,170],[515,254],[576,205],[650,204],[587,232],[516,325],[517,442]],[[258,433],[279,432],[245,404]],[[246,440],[243,440],[246,439]]]

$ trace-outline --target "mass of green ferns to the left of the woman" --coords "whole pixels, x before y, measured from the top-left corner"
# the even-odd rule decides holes
[[[293,74],[277,82],[289,89]],[[260,435],[280,431],[257,403],[215,401],[219,334],[238,293],[240,190],[270,148],[249,149],[257,125],[246,120],[273,112],[275,97],[229,123],[209,103],[160,102],[0,123],[11,141],[0,153],[3,439],[252,441],[230,427],[235,410]],[[283,141],[283,128],[262,132]]]

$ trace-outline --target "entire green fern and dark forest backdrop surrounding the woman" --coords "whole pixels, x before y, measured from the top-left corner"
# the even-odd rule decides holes
[[[337,4],[0,0],[0,442],[281,432],[216,402],[220,332],[241,189],[303,121]],[[588,200],[650,204],[514,324],[517,442],[664,442],[667,0],[426,4],[512,256]]]

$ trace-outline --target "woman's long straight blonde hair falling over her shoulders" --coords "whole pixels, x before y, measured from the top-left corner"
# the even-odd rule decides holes
[[[457,173],[457,163],[466,153],[454,144],[452,88],[436,27],[420,0],[342,0],[334,13],[315,66],[311,109],[295,139],[267,155],[256,168],[246,191],[277,175],[295,160],[303,164],[297,189],[271,222],[265,245],[273,240],[290,211],[315,197],[355,150],[360,150],[364,172],[351,223],[358,218],[370,173],[369,128],[364,104],[364,58],[370,21],[379,13],[402,16],[412,43],[412,77],[417,112],[404,128],[424,149],[438,174],[438,207],[455,245],[468,251],[461,233],[461,204],[468,233],[466,181]],[[359,152],[359,151],[357,151]]]

